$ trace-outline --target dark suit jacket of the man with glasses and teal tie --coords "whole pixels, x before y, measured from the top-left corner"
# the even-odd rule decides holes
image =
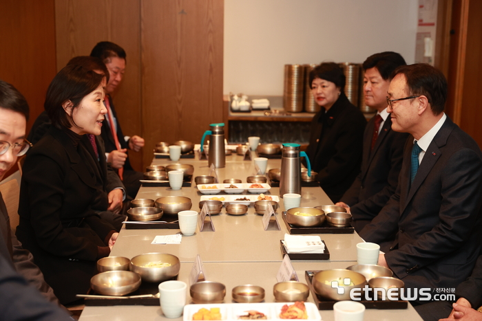
[[[406,287],[456,287],[481,247],[482,153],[447,118],[410,188],[411,151],[409,139],[397,191],[360,236],[379,243],[396,235],[385,258]]]

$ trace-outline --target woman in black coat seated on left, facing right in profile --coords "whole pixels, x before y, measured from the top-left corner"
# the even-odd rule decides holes
[[[100,135],[105,77],[68,65],[45,98],[52,126],[23,165],[17,237],[63,305],[85,294],[118,233],[92,210],[102,184],[85,134]],[[92,148],[90,148],[92,149]]]

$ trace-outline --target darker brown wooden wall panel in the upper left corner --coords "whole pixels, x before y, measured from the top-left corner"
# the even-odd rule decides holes
[[[54,0],[0,1],[0,79],[16,87],[30,105],[30,121],[43,111],[56,74]]]

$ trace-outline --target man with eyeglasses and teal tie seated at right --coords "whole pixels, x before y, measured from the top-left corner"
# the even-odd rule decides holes
[[[470,276],[481,249],[482,153],[443,112],[447,80],[441,71],[415,64],[392,76],[392,129],[412,139],[395,194],[359,234],[374,243],[395,236],[378,264],[406,288],[452,289]]]

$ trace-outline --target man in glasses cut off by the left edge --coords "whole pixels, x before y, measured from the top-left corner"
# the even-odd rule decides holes
[[[12,85],[0,80],[0,181],[30,147],[25,142],[29,108],[22,94]],[[50,302],[60,305],[52,288],[45,283],[33,256],[24,250],[17,237],[10,230],[10,218],[0,194],[0,256],[5,258],[30,285],[41,291]],[[0,313],[1,315],[1,313]]]

